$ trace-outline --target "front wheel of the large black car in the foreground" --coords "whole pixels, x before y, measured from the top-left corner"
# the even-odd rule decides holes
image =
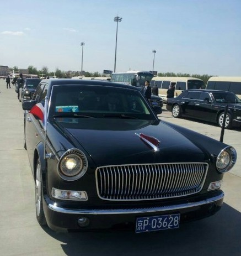
[[[38,159],[36,164],[36,175],[35,175],[35,206],[36,206],[36,218],[41,226],[46,224],[44,216],[44,208],[42,206],[42,176],[41,176],[41,165]]]

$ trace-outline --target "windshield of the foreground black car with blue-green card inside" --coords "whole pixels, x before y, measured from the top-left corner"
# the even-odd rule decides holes
[[[94,85],[53,86],[50,116],[154,119],[140,92]]]

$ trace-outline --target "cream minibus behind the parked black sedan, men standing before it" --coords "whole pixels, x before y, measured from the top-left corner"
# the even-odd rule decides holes
[[[167,101],[167,90],[170,85],[175,86],[174,97],[180,95],[181,92],[189,89],[204,89],[205,85],[201,79],[186,76],[154,76],[151,81],[151,87],[158,87],[158,95]]]

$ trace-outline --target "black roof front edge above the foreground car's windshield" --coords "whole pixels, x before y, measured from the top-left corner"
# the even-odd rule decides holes
[[[109,87],[118,87],[118,88],[128,88],[135,91],[138,90],[137,87],[131,85],[125,85],[123,83],[116,83],[110,81],[102,81],[102,80],[82,80],[82,79],[44,79],[41,82],[49,83],[50,87],[53,85],[103,85]]]

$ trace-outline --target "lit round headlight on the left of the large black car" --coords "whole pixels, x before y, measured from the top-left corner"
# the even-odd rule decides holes
[[[63,180],[74,181],[85,174],[88,162],[81,150],[69,149],[61,156],[57,167]]]

